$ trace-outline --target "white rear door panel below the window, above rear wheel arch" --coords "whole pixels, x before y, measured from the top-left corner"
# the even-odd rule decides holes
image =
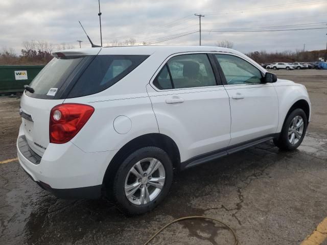
[[[223,86],[147,90],[159,132],[176,142],[181,161],[228,146],[230,109]]]

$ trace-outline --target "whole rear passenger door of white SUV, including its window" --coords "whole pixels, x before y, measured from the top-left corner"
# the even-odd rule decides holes
[[[176,142],[181,161],[229,144],[229,99],[215,74],[207,54],[178,54],[147,86],[159,132]]]

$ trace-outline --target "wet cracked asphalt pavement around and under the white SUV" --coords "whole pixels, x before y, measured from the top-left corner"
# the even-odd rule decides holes
[[[299,244],[327,216],[326,75],[279,76],[305,84],[311,96],[312,122],[298,150],[281,152],[268,141],[185,170],[164,202],[142,216],[127,217],[105,199],[59,200],[17,161],[0,164],[0,244],[143,244],[190,215],[222,220],[240,244]],[[0,161],[16,157],[18,106],[0,97]],[[233,244],[233,236],[214,222],[185,220],[151,244]]]

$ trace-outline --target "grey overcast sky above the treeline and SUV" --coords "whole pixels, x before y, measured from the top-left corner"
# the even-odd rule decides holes
[[[327,0],[101,0],[104,45],[113,40],[134,38],[142,43],[162,41],[199,29],[229,31],[327,28]],[[242,11],[240,11],[242,10]],[[89,46],[80,20],[94,43],[100,44],[98,0],[1,0],[0,48],[13,47],[17,53],[23,41],[45,40]],[[299,26],[295,26],[299,25]],[[233,29],[233,30],[231,30]],[[226,31],[226,30],[221,30]],[[285,51],[326,48],[327,29],[283,32],[202,32],[202,45],[229,40],[236,50]],[[167,38],[165,38],[167,37]],[[199,33],[157,44],[198,45]]]

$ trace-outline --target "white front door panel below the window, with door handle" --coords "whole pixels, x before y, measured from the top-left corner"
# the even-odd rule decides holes
[[[276,133],[278,100],[272,84],[225,85],[230,97],[230,145]]]

